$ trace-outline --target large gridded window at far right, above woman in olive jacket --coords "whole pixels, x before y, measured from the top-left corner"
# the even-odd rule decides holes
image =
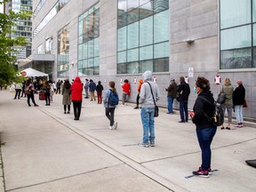
[[[220,69],[256,68],[256,0],[220,0]]]

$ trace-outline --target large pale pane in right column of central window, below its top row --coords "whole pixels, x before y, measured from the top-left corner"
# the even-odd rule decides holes
[[[169,11],[154,15],[154,43],[169,41]]]

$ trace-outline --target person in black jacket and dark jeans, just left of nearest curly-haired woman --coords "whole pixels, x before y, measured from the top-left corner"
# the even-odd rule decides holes
[[[180,100],[180,121],[179,123],[188,122],[188,96],[190,94],[189,84],[185,82],[184,76],[180,76],[180,84],[177,89]]]

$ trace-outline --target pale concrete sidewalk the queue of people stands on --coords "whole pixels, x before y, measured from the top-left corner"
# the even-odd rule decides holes
[[[256,129],[220,130],[212,142],[208,179],[185,176],[198,169],[201,151],[195,124],[162,109],[156,118],[156,147],[142,148],[140,110],[118,106],[117,130],[108,129],[102,105],[84,100],[79,121],[63,114],[61,95],[51,106],[44,100],[28,108],[0,92],[3,191],[255,191],[256,169],[244,163],[256,158]],[[254,124],[253,124],[254,125]],[[1,189],[0,189],[1,191]]]

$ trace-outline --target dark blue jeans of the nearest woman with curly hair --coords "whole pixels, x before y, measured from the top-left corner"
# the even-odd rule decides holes
[[[210,127],[205,129],[196,129],[197,140],[202,151],[202,164],[201,168],[207,171],[211,168],[212,150],[211,143],[212,139],[217,131],[217,127]]]

